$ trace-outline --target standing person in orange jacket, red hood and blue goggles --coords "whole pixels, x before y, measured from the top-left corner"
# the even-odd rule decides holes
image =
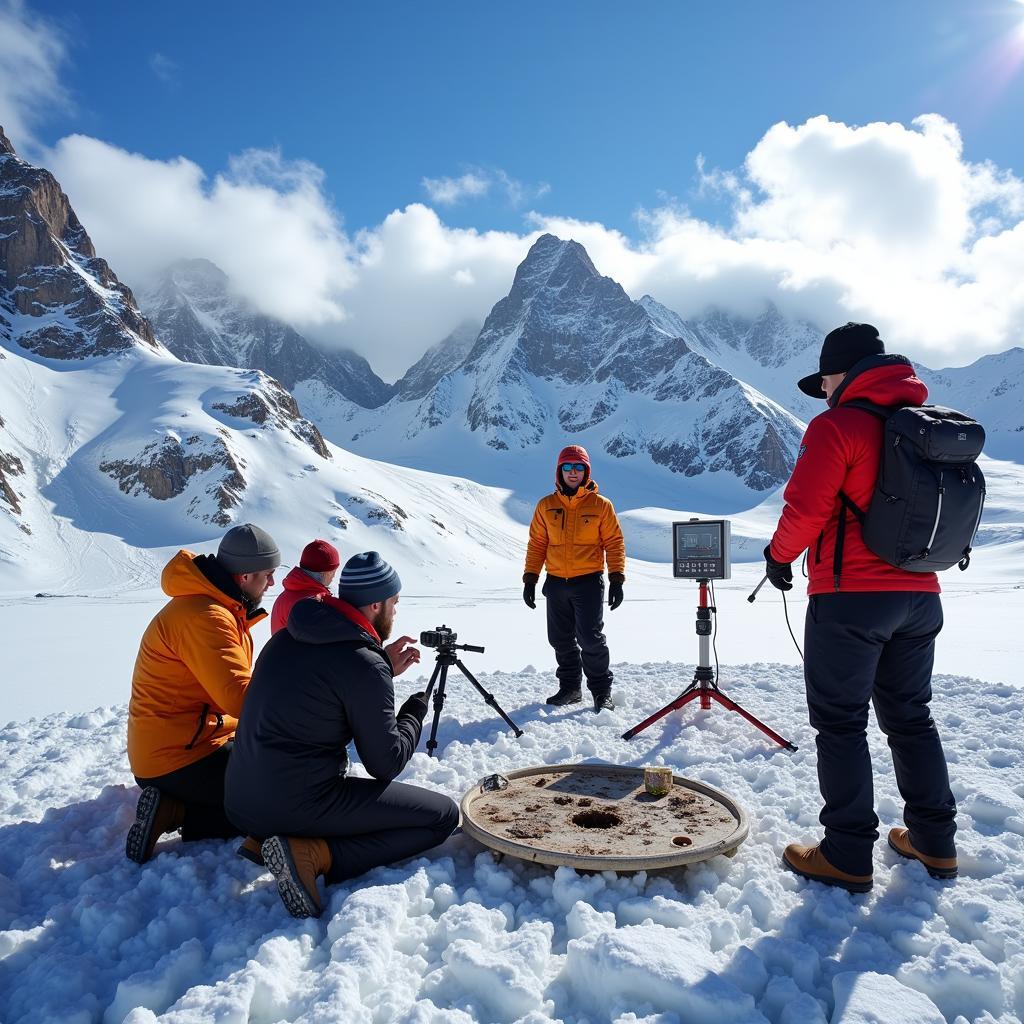
[[[626,545],[615,510],[597,493],[590,456],[579,444],[562,449],[555,466],[555,490],[537,503],[529,524],[522,599],[537,607],[541,569],[548,606],[548,642],[558,664],[558,692],[549,705],[582,699],[583,676],[594,711],[611,711],[611,670],[604,638],[604,564],[608,563],[608,607],[623,603]]]

